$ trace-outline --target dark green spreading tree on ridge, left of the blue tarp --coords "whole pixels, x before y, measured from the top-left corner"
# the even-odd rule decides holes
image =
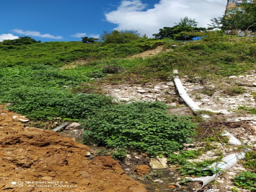
[[[196,20],[188,19],[188,17],[180,19],[179,23],[174,24],[176,25],[173,27],[164,27],[162,29],[159,29],[159,33],[153,34],[153,36],[158,39],[163,39],[167,37],[176,40],[184,40],[184,36],[182,35],[184,34],[184,32],[201,32],[206,30],[206,28],[198,28]],[[193,37],[195,37],[195,35],[189,36],[186,40],[190,40]]]

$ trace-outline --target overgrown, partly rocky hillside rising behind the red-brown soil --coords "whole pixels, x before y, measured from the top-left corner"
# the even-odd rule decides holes
[[[5,108],[27,116],[29,127],[79,122],[85,144],[106,146],[105,155],[126,168],[127,154],[166,156],[169,168],[199,177],[210,173],[197,168],[251,148],[247,164],[239,167],[254,173],[255,63],[255,38],[214,33],[190,42],[0,44],[0,104],[9,103]],[[193,116],[179,99],[173,69],[210,120]],[[249,123],[239,117],[250,117]],[[230,146],[223,130],[249,141]],[[232,177],[223,175],[224,184],[234,186]]]

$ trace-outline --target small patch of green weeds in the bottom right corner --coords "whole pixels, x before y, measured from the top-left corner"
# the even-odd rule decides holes
[[[234,182],[238,187],[256,191],[256,174],[252,172],[242,172],[234,178]]]

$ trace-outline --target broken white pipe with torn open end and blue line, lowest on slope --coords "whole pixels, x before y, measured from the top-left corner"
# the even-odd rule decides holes
[[[213,163],[211,166],[206,167],[203,170],[207,170],[207,168],[211,168],[211,167],[216,167],[213,171],[216,171],[218,168],[220,168],[221,170],[228,171],[230,168],[232,168],[239,159],[244,159],[244,152],[242,153],[232,153],[228,156],[225,156],[221,159],[220,163]],[[190,179],[188,181],[202,181],[203,185],[201,188],[196,189],[195,192],[199,191],[200,189],[204,188],[208,183],[210,183],[211,181],[215,180],[217,177],[219,177],[220,175],[222,175],[223,172],[217,172],[215,174],[213,174],[212,176],[207,176],[207,177],[198,177],[198,178],[193,178]]]

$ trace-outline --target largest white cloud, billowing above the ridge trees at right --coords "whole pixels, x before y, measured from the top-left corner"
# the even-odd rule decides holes
[[[140,0],[123,0],[116,10],[106,13],[106,20],[118,29],[134,29],[151,36],[163,27],[172,27],[181,18],[196,19],[198,27],[207,27],[212,17],[222,16],[227,1],[224,0],[160,0],[152,9]]]

